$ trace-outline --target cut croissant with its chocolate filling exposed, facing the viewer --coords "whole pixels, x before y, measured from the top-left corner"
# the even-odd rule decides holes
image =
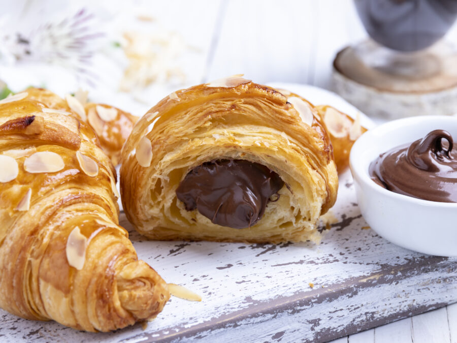
[[[234,76],[152,107],[124,145],[120,185],[151,239],[319,241],[338,174],[313,105]]]

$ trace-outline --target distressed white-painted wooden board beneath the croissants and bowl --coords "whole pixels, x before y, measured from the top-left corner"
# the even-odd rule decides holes
[[[339,221],[318,246],[154,242],[130,228],[140,258],[167,282],[203,296],[198,303],[173,298],[146,330],[84,333],[0,311],[0,337],[320,342],[456,302],[457,259],[413,253],[379,237],[361,217],[349,172],[340,184],[333,209]],[[122,224],[129,227],[125,218]]]

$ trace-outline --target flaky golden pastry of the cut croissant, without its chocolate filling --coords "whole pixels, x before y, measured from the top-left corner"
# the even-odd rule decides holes
[[[121,194],[140,233],[153,239],[272,243],[319,239],[316,222],[336,200],[338,177],[330,140],[313,119],[317,111],[309,103],[292,105],[273,88],[237,80],[174,92],[134,127],[122,150]],[[190,169],[231,158],[263,164],[286,184],[249,229],[213,224],[176,198]]]

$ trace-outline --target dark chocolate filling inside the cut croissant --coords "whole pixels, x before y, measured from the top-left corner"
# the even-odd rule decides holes
[[[261,164],[216,160],[188,172],[176,195],[187,211],[197,208],[214,224],[244,229],[262,218],[269,201],[279,199],[283,185],[277,173]]]

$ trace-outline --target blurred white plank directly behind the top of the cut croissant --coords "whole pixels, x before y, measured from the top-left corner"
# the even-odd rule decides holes
[[[246,73],[257,83],[309,82],[314,1],[227,1],[207,80]],[[266,73],[266,71],[268,72]]]

